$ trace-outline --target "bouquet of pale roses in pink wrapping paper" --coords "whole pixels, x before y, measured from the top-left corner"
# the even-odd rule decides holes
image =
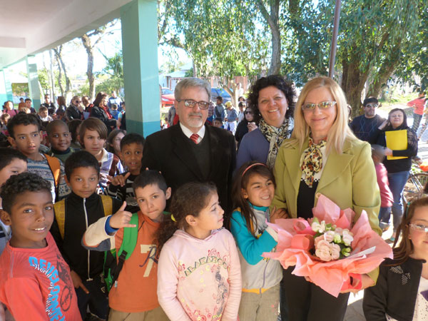
[[[392,258],[392,249],[370,227],[362,210],[360,218],[350,208],[341,210],[324,195],[312,208],[313,218],[277,219],[267,223],[278,233],[275,253],[265,258],[279,260],[293,275],[309,277],[326,292],[337,297],[341,290],[353,287],[350,277],[371,272],[384,258]]]

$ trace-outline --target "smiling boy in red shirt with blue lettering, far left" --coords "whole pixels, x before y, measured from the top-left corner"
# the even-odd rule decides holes
[[[12,237],[0,257],[0,301],[16,321],[81,321],[70,269],[49,233],[51,183],[34,173],[13,175],[1,199]]]

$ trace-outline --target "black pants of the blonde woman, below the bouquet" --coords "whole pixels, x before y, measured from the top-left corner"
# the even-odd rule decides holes
[[[294,267],[284,270],[282,278],[286,306],[288,307],[288,315],[282,320],[342,321],[345,317],[350,294],[340,293],[338,297],[333,297],[321,287],[312,282],[307,282],[305,277],[292,275],[292,270]]]

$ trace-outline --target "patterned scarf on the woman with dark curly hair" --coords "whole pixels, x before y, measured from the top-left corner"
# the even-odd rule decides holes
[[[290,138],[292,128],[294,127],[294,120],[292,118],[285,118],[284,123],[280,128],[267,125],[264,119],[259,122],[259,129],[263,133],[263,136],[270,143],[269,153],[267,154],[266,165],[269,168],[273,168],[275,165],[275,159],[282,144],[287,138]]]

